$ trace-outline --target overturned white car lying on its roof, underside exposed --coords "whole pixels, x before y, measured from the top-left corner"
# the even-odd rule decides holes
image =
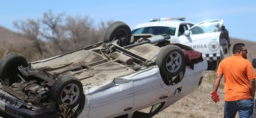
[[[83,49],[36,62],[9,53],[0,62],[0,115],[152,117],[196,90],[207,69],[201,52],[169,38],[131,35],[114,22]]]

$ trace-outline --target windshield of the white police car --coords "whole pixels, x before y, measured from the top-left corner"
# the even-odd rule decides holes
[[[154,26],[154,27],[145,27],[138,28],[131,31],[132,34],[141,34],[141,33],[152,33],[154,35],[161,35],[166,33],[167,35],[175,35],[176,28],[173,27],[164,27],[164,26]]]

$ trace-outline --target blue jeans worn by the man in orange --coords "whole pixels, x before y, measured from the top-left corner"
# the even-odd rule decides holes
[[[236,113],[239,113],[239,117],[252,118],[253,117],[253,98],[249,100],[238,101],[225,101],[224,102],[224,117],[236,117]]]

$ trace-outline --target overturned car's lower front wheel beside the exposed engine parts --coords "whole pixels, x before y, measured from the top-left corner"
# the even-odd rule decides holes
[[[79,79],[73,76],[64,76],[53,83],[50,98],[57,105],[66,104],[70,109],[75,108],[83,97],[83,86]]]

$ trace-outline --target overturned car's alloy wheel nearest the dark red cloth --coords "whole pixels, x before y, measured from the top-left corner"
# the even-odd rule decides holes
[[[162,77],[174,77],[181,73],[185,65],[185,56],[181,48],[175,45],[163,47],[156,57],[156,65]]]

